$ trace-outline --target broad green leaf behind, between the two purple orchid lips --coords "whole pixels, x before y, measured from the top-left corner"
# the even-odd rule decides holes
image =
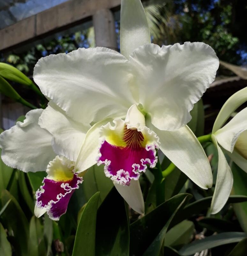
[[[95,164],[89,168],[83,179],[84,181],[82,186],[87,200],[99,191],[99,201],[102,203],[113,187],[113,182],[111,179],[106,177],[104,173],[104,166],[102,164],[100,166]]]

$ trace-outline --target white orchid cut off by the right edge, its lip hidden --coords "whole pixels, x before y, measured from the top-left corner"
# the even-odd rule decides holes
[[[231,159],[247,172],[247,108],[225,124],[230,115],[246,101],[247,87],[233,94],[225,102],[213,125],[212,140],[218,149],[219,163],[211,204],[212,214],[219,212],[226,204],[233,184],[232,172],[221,148],[224,148]]]

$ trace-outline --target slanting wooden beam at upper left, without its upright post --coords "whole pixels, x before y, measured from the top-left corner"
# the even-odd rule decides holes
[[[0,51],[11,50],[71,28],[102,9],[120,7],[121,0],[70,0],[0,30]]]

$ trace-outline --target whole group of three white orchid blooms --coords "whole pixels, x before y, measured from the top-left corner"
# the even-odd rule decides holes
[[[34,81],[49,99],[47,108],[29,111],[23,123],[0,136],[5,164],[47,172],[36,192],[37,217],[47,212],[59,220],[94,164],[104,165],[117,191],[143,214],[139,177],[156,166],[157,150],[199,187],[212,187],[208,158],[186,124],[215,79],[214,50],[199,42],[151,44],[140,0],[122,0],[120,48],[121,53],[96,47],[41,58]],[[232,96],[213,127],[219,152],[213,213],[226,203],[233,180],[221,147],[247,171],[247,109],[222,127],[246,94],[245,88]]]

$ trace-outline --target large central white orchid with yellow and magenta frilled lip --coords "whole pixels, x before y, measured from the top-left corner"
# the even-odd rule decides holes
[[[219,60],[204,43],[151,44],[140,0],[121,2],[120,46],[121,53],[96,47],[41,58],[34,81],[73,120],[94,123],[76,170],[105,164],[120,194],[143,213],[138,178],[147,164],[155,166],[156,148],[198,186],[212,186],[206,154],[186,124],[194,103],[214,81]],[[47,121],[52,112],[49,106],[40,118],[48,131],[60,126]],[[63,135],[59,129],[53,134],[58,149]],[[69,155],[69,150],[58,151]]]

